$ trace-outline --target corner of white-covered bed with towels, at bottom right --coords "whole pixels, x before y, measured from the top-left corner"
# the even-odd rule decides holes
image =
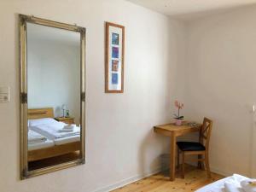
[[[247,181],[253,181],[253,179],[250,179],[248,177],[244,177],[238,174],[234,174],[233,176],[230,177],[225,177],[223,179],[218,180],[217,182],[208,184],[207,186],[196,190],[195,192],[227,192],[227,191],[239,191],[239,192],[244,192],[245,190],[242,189],[241,187],[241,182],[247,182]],[[229,189],[226,189],[226,188]],[[248,187],[248,185],[247,185]],[[249,191],[256,191],[252,190],[252,187],[249,186],[251,190]]]

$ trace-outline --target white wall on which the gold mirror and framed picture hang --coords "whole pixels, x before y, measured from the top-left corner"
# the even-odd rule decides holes
[[[183,24],[120,0],[0,2],[0,84],[11,102],[0,105],[0,189],[5,192],[89,192],[154,172],[169,147],[152,131],[172,117],[183,61]],[[86,164],[19,180],[20,105],[17,14],[87,28]],[[125,93],[104,93],[104,21],[125,26]],[[181,68],[182,69],[182,68]]]

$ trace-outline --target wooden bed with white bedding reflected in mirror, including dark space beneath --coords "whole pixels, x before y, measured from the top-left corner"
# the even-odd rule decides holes
[[[55,117],[54,108],[28,109],[27,118],[29,171],[79,159],[80,125],[61,121],[68,118]]]

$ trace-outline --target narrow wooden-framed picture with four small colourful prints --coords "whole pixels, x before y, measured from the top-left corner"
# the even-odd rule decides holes
[[[125,26],[106,22],[105,92],[124,92]]]

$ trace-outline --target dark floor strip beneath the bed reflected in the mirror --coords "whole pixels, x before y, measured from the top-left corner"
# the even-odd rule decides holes
[[[44,160],[36,160],[28,163],[28,170],[36,170],[40,168],[44,168],[47,166],[55,166],[61,163],[66,163],[71,160],[77,160],[79,159],[79,151],[70,153],[70,154],[63,154],[57,157],[51,157]]]

